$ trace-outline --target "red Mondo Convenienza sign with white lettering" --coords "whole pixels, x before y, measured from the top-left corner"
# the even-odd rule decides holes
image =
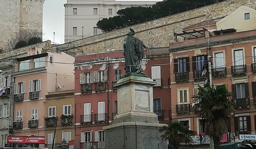
[[[45,144],[45,136],[8,136],[7,143]]]

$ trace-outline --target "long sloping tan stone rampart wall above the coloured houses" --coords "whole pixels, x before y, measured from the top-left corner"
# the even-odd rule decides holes
[[[149,45],[149,47],[169,46],[169,43],[174,42],[174,31],[181,33],[182,28],[208,19],[219,21],[242,5],[255,9],[256,0],[227,0],[131,27],[136,32],[135,36],[144,41],[145,45]],[[207,18],[208,16],[209,18]],[[77,47],[81,47],[84,53],[104,51],[107,49],[123,49],[123,40],[129,28],[114,30],[72,41],[71,43]],[[70,43],[59,45],[58,48],[67,47],[67,45],[70,45]],[[54,51],[56,48],[52,47],[49,50]]]

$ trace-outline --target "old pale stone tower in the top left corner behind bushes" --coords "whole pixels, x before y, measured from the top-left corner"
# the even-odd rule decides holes
[[[21,30],[43,28],[45,0],[0,0],[0,48]]]

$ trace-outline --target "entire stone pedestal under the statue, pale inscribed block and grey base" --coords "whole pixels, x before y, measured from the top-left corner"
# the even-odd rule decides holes
[[[104,126],[106,149],[167,149],[160,140],[157,115],[153,113],[153,86],[149,77],[130,75],[117,88],[118,112],[112,125]]]

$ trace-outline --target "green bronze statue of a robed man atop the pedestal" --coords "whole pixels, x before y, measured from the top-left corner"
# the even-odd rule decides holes
[[[135,31],[130,28],[130,32],[124,40],[124,70],[126,73],[143,74],[141,60],[144,58],[144,48],[147,48],[143,42],[133,37]]]

